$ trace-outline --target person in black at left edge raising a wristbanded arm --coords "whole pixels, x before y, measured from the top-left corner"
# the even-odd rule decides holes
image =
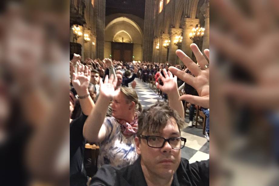
[[[87,116],[95,107],[88,90],[89,81],[90,69],[88,66],[80,66],[77,72],[73,73],[72,85],[79,96],[82,114],[75,120],[70,119],[70,186],[85,186],[87,183],[86,171],[83,167],[86,140],[83,138],[82,130]],[[70,117],[74,99],[70,93]]]

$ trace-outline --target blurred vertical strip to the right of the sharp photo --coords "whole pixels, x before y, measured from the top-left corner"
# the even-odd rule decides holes
[[[279,2],[210,8],[210,184],[278,185]]]

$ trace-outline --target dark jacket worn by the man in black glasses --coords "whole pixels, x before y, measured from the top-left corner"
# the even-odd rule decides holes
[[[147,186],[140,165],[140,158],[135,163],[116,169],[111,165],[102,166],[92,178],[90,186]],[[189,164],[181,158],[180,165],[173,175],[172,186],[207,186],[209,185],[209,160]]]

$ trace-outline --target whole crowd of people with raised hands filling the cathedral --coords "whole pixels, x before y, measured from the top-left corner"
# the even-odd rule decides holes
[[[81,56],[74,54],[70,61],[70,185],[88,182],[83,165],[87,142],[99,145],[98,171],[90,185],[209,184],[209,162],[190,165],[180,152],[187,140],[180,135],[185,127],[181,98],[186,96],[184,100],[209,112],[208,62],[197,45],[191,48],[199,66],[180,50],[176,54],[183,67],[108,58],[81,62]],[[209,59],[209,50],[204,52]],[[143,110],[134,90],[136,77],[143,82],[154,78],[168,102]],[[183,92],[196,94],[182,95],[182,86]]]

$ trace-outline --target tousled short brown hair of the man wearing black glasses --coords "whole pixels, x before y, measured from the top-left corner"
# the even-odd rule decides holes
[[[177,123],[179,132],[184,128],[184,120],[180,115],[170,108],[165,102],[158,102],[151,106],[149,109],[143,110],[138,118],[138,132],[137,136],[140,134],[156,134],[166,126],[170,119],[174,119]]]

